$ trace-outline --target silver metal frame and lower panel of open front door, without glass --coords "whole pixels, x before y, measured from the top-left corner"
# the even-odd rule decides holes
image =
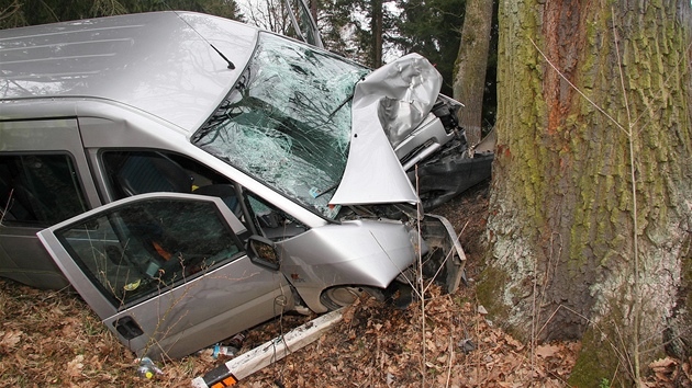
[[[281,308],[293,307],[292,294],[286,277],[250,263],[247,255],[216,267],[204,276],[157,293],[156,297],[142,303],[114,306],[94,288],[93,281],[76,264],[55,232],[69,227],[78,219],[108,213],[134,202],[160,197],[213,202],[234,231],[243,230],[241,222],[220,198],[157,193],[124,198],[38,232],[38,238],[70,284],[103,323],[130,349],[153,357],[161,357],[164,354],[180,357],[261,323],[272,318],[277,311],[281,311]],[[283,307],[275,306],[275,299],[280,296],[283,297]],[[114,327],[123,317],[132,318],[144,333],[131,339],[123,336]]]

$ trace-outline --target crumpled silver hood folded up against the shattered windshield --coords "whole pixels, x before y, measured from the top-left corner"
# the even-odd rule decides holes
[[[440,87],[442,76],[418,54],[384,65],[356,84],[348,160],[330,204],[418,202],[393,147],[427,116]]]

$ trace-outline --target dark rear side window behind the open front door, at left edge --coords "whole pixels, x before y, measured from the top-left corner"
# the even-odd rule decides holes
[[[49,226],[87,210],[70,156],[0,155],[3,222]]]

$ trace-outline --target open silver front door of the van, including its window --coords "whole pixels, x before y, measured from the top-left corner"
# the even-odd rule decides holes
[[[279,263],[250,260],[245,231],[221,198],[153,193],[37,236],[103,323],[138,355],[160,358],[270,319],[281,295],[292,307]]]

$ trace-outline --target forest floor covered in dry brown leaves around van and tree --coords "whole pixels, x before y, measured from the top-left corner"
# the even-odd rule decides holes
[[[460,236],[469,286],[454,295],[431,287],[424,310],[420,301],[394,310],[362,298],[320,340],[238,386],[567,387],[578,342],[524,344],[481,313],[473,279],[482,270],[488,183],[435,213]],[[309,319],[283,316],[255,328],[242,351]],[[134,357],[79,296],[0,281],[1,387],[189,387],[192,378],[228,360],[202,353],[158,363],[165,374],[146,380],[136,375]],[[689,386],[689,363],[666,358],[651,365],[646,386]]]

